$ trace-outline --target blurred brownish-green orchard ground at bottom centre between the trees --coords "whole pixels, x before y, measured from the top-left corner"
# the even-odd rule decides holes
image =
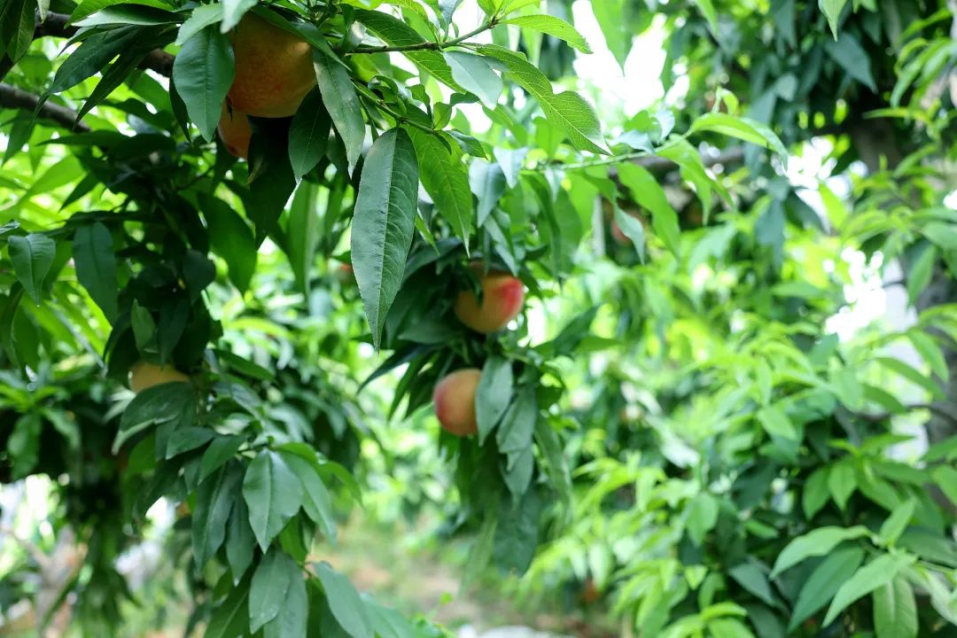
[[[459,591],[469,541],[436,546],[422,529],[397,532],[353,517],[340,530],[336,547],[323,544],[315,557],[344,572],[359,588],[404,613],[422,613],[460,638],[604,638],[617,635],[611,626],[594,627],[581,610],[568,613],[516,605],[512,592],[493,576]],[[418,527],[418,526],[416,526]],[[542,605],[537,605],[541,607]],[[589,614],[591,616],[592,614]]]

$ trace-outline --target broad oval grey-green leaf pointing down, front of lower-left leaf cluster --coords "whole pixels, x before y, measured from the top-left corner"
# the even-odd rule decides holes
[[[249,525],[263,551],[302,504],[299,477],[275,451],[262,451],[249,464],[242,495],[249,509]]]

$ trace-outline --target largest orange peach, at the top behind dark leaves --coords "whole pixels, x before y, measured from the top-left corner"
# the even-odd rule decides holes
[[[235,77],[229,98],[243,113],[285,118],[316,86],[312,47],[253,13],[246,13],[229,34]]]

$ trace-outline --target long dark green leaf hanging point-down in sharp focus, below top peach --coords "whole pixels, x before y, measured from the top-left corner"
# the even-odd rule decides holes
[[[368,152],[352,218],[352,268],[376,348],[402,285],[417,204],[415,149],[404,129],[393,128]]]

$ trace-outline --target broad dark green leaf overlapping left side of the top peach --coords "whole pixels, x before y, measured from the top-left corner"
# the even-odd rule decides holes
[[[176,91],[186,103],[189,120],[207,141],[219,124],[234,76],[233,46],[212,25],[190,37],[173,62]]]

